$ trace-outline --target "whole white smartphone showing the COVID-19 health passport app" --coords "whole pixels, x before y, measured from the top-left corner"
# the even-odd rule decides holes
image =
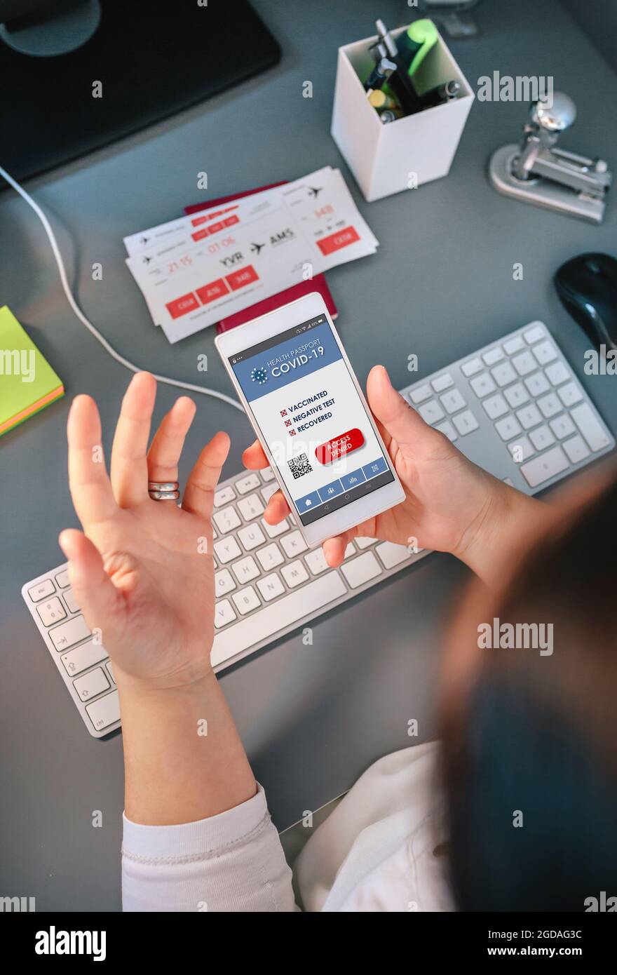
[[[307,545],[405,499],[321,294],[214,343]]]

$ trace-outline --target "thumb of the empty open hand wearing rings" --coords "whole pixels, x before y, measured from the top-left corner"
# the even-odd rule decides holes
[[[77,604],[91,630],[103,630],[117,615],[121,597],[105,572],[96,545],[76,528],[61,531],[58,543],[68,560],[68,578]]]

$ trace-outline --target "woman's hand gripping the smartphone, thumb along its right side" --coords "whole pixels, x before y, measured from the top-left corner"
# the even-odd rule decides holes
[[[370,370],[366,398],[405,488],[405,501],[324,542],[328,565],[340,565],[350,539],[366,535],[449,552],[487,577],[504,532],[518,530],[520,519],[544,506],[487,474],[425,423],[393,388],[383,366]],[[243,460],[252,469],[268,464],[258,441],[245,450]],[[265,519],[276,525],[288,514],[279,490],[270,498]]]

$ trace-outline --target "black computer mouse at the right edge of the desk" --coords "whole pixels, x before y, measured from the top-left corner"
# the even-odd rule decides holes
[[[610,254],[578,254],[561,264],[555,287],[594,344],[617,349],[617,260]]]

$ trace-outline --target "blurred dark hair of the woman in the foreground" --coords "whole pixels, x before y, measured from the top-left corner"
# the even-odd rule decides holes
[[[490,607],[502,623],[552,623],[554,652],[479,650],[472,692],[444,711],[459,910],[580,912],[617,897],[616,517],[613,480]]]

